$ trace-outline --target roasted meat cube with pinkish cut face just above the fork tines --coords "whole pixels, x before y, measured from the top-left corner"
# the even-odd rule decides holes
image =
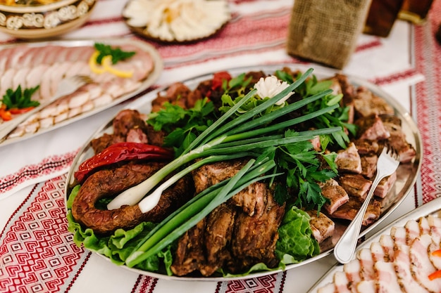
[[[390,137],[383,120],[378,115],[370,115],[356,119],[354,124],[359,126],[357,131],[358,139],[366,139],[368,141],[381,141]]]

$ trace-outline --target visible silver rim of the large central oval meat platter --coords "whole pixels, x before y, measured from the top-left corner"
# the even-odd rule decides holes
[[[273,74],[275,70],[281,70],[283,67],[290,67],[292,70],[301,70],[302,72],[306,71],[309,67],[313,67],[314,71],[313,74],[316,75],[318,79],[324,79],[327,77],[333,77],[337,71],[335,70],[329,70],[323,67],[316,67],[316,66],[304,66],[304,65],[261,65],[261,66],[253,66],[253,67],[240,67],[240,68],[233,68],[230,70],[226,70],[230,72],[230,74],[234,77],[238,74],[241,74],[243,72],[250,72],[250,71],[259,71],[262,70],[263,72],[267,74]],[[213,77],[213,74],[206,74],[199,77],[194,77],[192,79],[187,79],[183,81],[184,84],[190,87],[190,89],[196,88],[196,86],[207,79],[211,79]],[[397,181],[395,182],[395,187],[392,188],[390,193],[385,197],[385,199],[382,202],[383,210],[382,215],[380,216],[380,219],[378,221],[375,221],[375,223],[371,224],[368,228],[363,230],[361,232],[360,237],[366,235],[368,232],[373,230],[376,226],[378,226],[384,219],[389,216],[392,211],[394,211],[399,204],[404,200],[406,195],[409,193],[409,191],[412,189],[416,177],[418,176],[418,172],[421,168],[421,148],[422,148],[422,142],[421,142],[421,136],[419,134],[418,128],[416,127],[416,124],[414,123],[413,119],[409,115],[409,112],[407,112],[402,105],[397,103],[397,101],[392,98],[390,95],[385,93],[385,91],[378,88],[378,86],[375,86],[374,84],[367,82],[364,79],[359,79],[356,77],[349,77],[349,82],[354,84],[354,86],[366,86],[368,89],[373,91],[376,95],[383,97],[387,103],[389,103],[394,109],[395,109],[395,115],[399,117],[402,120],[402,129],[404,131],[404,134],[406,134],[406,140],[414,146],[416,150],[416,158],[414,159],[414,162],[408,163],[408,164],[400,164],[399,168],[397,169]],[[151,91],[150,93],[147,93],[145,96],[142,96],[135,100],[134,102],[130,103],[127,108],[130,109],[136,109],[139,110],[139,112],[143,113],[149,113],[151,110],[151,100],[154,100],[156,98],[158,93],[161,93],[162,91],[166,91],[165,88],[157,89],[155,91]],[[101,126],[100,129],[97,130],[97,132],[89,139],[89,141],[92,141],[93,138],[97,138],[101,136],[104,133],[111,134],[112,128],[111,124],[113,121],[113,117],[109,119],[109,122],[107,124],[104,124]],[[66,180],[66,197],[70,194],[71,189],[73,188],[73,183],[75,181],[73,174],[78,169],[79,165],[85,161],[85,159],[92,157],[94,155],[94,152],[92,148],[90,148],[89,143],[84,145],[82,150],[77,154],[75,157],[72,167],[70,168],[70,171],[68,173],[68,177]],[[67,200],[67,198],[66,198]],[[302,261],[301,263],[295,263],[286,266],[286,270],[290,270],[292,268],[297,268],[299,266],[303,266],[306,263],[311,263],[312,261],[316,261],[318,259],[322,259],[324,256],[327,256],[333,251],[333,246],[337,242],[340,235],[342,235],[344,229],[347,227],[347,221],[344,222],[336,222],[335,223],[335,233],[333,234],[333,237],[330,237],[330,239],[325,240],[325,243],[321,245],[321,254],[318,256],[314,256],[311,259],[306,259],[305,261]],[[105,257],[105,256],[103,256]],[[106,258],[106,257],[105,257]],[[107,258],[106,258],[107,259]],[[110,262],[110,260],[109,260]],[[112,264],[114,265],[114,264]],[[244,278],[254,278],[254,277],[260,277],[263,275],[269,275],[273,273],[277,273],[278,271],[265,271],[265,272],[259,272],[259,273],[252,273],[250,275],[246,276],[240,276],[240,277],[232,277],[232,278],[222,278],[222,277],[209,277],[209,278],[192,278],[192,277],[178,277],[178,276],[169,276],[166,275],[166,273],[152,273],[148,271],[142,271],[136,268],[128,268],[127,266],[123,266],[123,268],[126,268],[130,271],[135,271],[136,273],[142,274],[142,275],[149,275],[154,278],[162,278],[162,279],[168,279],[168,280],[206,280],[206,281],[224,281],[224,280],[237,280],[237,279],[244,279]]]

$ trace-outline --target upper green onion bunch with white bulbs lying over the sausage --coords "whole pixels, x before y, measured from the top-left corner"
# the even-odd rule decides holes
[[[202,132],[179,157],[175,158],[172,162],[161,168],[156,172],[156,174],[149,177],[146,181],[139,183],[139,185],[136,185],[133,188],[125,190],[123,193],[120,193],[120,195],[115,197],[108,204],[108,209],[117,209],[125,204],[134,205],[139,203],[139,208],[141,211],[146,212],[154,207],[154,205],[152,206],[151,203],[148,204],[149,200],[147,199],[149,197],[159,198],[163,190],[178,181],[179,178],[182,178],[182,176],[185,176],[185,174],[190,173],[192,170],[197,169],[198,167],[201,167],[202,164],[206,164],[208,162],[221,162],[227,159],[235,159],[239,157],[258,157],[271,147],[287,145],[299,141],[309,141],[316,136],[323,136],[333,134],[337,131],[342,131],[341,127],[330,127],[325,129],[302,131],[299,132],[297,136],[291,137],[284,137],[283,134],[274,135],[274,133],[282,133],[283,131],[289,129],[290,126],[305,122],[314,117],[318,117],[338,107],[338,105],[331,105],[327,108],[310,112],[306,115],[289,119],[285,122],[270,124],[275,119],[302,108],[304,105],[323,98],[332,92],[331,90],[323,91],[308,98],[285,105],[285,107],[278,108],[278,110],[274,110],[273,112],[266,112],[268,108],[272,107],[275,103],[301,85],[306,78],[309,77],[312,71],[312,69],[307,70],[304,74],[302,74],[301,77],[299,77],[299,79],[290,84],[290,86],[287,86],[286,89],[278,93],[273,98],[266,100],[264,103],[261,103],[247,112],[244,112],[244,114],[237,116],[234,119],[230,119],[230,117],[233,115],[237,115],[237,110],[239,110],[240,107],[247,102],[247,100],[253,98],[256,94],[255,89],[249,91],[249,93],[247,93],[246,96],[241,98],[235,105],[233,105],[230,110],[225,112],[225,114],[216,120],[216,122],[211,124],[211,126]],[[256,117],[259,114],[261,116]],[[172,176],[170,179],[168,179],[168,181],[165,181],[159,185],[159,183],[161,183],[161,181],[163,181],[163,179],[169,174],[180,170],[182,167],[195,159],[201,158],[206,159],[197,161],[194,164],[182,169],[182,171],[179,171],[178,174]],[[154,188],[156,189],[154,190]],[[151,190],[154,190],[153,193],[150,193]],[[149,194],[149,196],[145,197],[147,194]],[[139,202],[143,199],[143,197],[145,197],[144,201],[146,204]]]

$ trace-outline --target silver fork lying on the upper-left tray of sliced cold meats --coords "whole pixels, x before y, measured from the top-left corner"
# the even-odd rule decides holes
[[[47,105],[54,103],[54,101],[57,100],[58,98],[73,93],[81,86],[84,86],[85,84],[89,84],[89,83],[92,83],[92,79],[85,75],[74,75],[72,77],[61,79],[61,82],[58,84],[56,93],[54,94],[54,96],[49,98],[49,100],[45,100],[43,103],[40,103],[40,105],[33,108],[32,110],[25,112],[20,116],[14,117],[13,119],[11,119],[11,121],[0,124],[0,142],[4,141],[6,136],[8,136],[8,134],[11,134],[11,132],[21,122],[25,121],[27,118],[34,115],[36,112],[42,110]]]

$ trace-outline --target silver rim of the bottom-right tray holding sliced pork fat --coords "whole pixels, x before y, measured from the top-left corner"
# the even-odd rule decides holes
[[[368,240],[363,242],[359,247],[357,247],[357,251],[364,248],[369,248],[373,242],[378,242],[380,240],[380,237],[382,235],[390,235],[390,230],[392,227],[403,227],[407,221],[417,221],[420,218],[426,217],[426,216],[434,216],[437,218],[441,218],[441,197],[437,197],[437,199],[432,200],[426,204],[423,204],[421,207],[418,207],[417,209],[414,209],[413,211],[409,211],[409,213],[405,214],[404,216],[401,216],[397,221],[394,221],[393,223],[390,223],[389,225],[385,226],[385,228],[381,229],[372,237],[369,237]],[[316,282],[311,289],[309,289],[309,293],[315,293],[317,290],[324,285],[326,285],[329,282],[333,282],[333,275],[337,271],[343,271],[343,265],[337,264],[330,268],[330,270],[323,275],[323,277]]]

